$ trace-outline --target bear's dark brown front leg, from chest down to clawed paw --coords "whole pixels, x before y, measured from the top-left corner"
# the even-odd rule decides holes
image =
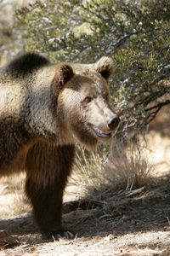
[[[74,159],[74,148],[53,148],[51,154],[41,148],[41,156],[39,154],[37,155],[37,147],[32,148],[26,160],[26,195],[33,207],[33,217],[43,238],[70,238],[72,233],[61,225],[61,213],[65,184]]]

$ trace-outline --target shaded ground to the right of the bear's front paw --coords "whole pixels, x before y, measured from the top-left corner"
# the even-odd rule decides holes
[[[142,192],[133,198],[110,201],[104,207],[70,212],[65,218],[79,236],[121,236],[139,231],[170,229],[169,178],[155,189]],[[72,223],[71,223],[72,222]]]

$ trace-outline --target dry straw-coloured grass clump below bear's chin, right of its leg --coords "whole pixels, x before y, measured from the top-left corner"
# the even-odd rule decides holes
[[[148,151],[147,151],[148,152]],[[94,196],[110,195],[120,190],[149,187],[153,184],[153,166],[145,154],[144,140],[140,143],[112,143],[110,153],[92,153],[88,159],[82,148],[77,154],[77,178],[85,188],[86,194]]]

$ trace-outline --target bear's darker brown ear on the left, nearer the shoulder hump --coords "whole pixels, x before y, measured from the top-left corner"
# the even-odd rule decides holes
[[[73,77],[73,75],[74,73],[70,65],[61,63],[56,66],[55,80],[59,82],[61,87],[65,85]]]

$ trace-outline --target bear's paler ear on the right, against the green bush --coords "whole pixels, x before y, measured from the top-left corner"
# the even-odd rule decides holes
[[[113,70],[113,61],[111,58],[104,56],[94,64],[94,69],[107,80],[111,76]]]

